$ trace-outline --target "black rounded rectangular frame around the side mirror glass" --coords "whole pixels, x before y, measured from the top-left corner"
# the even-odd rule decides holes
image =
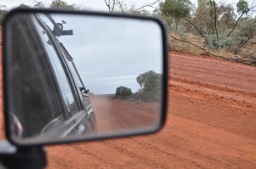
[[[20,13],[51,13],[51,14],[80,14],[80,15],[94,15],[94,16],[108,16],[114,18],[130,18],[130,19],[137,19],[137,20],[153,20],[158,25],[160,25],[162,31],[162,44],[163,44],[163,79],[162,79],[162,103],[161,103],[161,115],[160,115],[160,124],[158,127],[155,127],[153,130],[145,131],[145,132],[128,132],[128,133],[121,133],[121,134],[113,134],[108,136],[97,136],[95,138],[67,138],[65,140],[57,140],[57,141],[49,141],[35,144],[26,144],[26,143],[18,143],[12,137],[10,133],[9,127],[9,107],[8,107],[8,83],[7,83],[7,76],[8,73],[6,70],[6,62],[7,62],[7,25],[9,18],[14,14]],[[167,96],[168,96],[168,48],[167,48],[167,37],[166,37],[166,26],[160,19],[151,16],[145,15],[135,15],[135,14],[113,14],[113,13],[105,13],[105,12],[92,12],[92,11],[80,11],[80,10],[67,10],[67,9],[45,9],[45,8],[16,8],[11,11],[5,16],[3,20],[3,62],[2,62],[2,69],[3,69],[3,112],[4,112],[4,121],[5,121],[5,133],[6,136],[11,144],[14,144],[18,147],[28,147],[28,146],[41,146],[41,145],[49,145],[49,144],[68,144],[68,143],[77,143],[83,141],[92,141],[92,140],[101,140],[106,138],[123,138],[123,137],[130,137],[130,136],[137,136],[143,134],[149,134],[158,132],[165,124],[166,121],[166,110],[167,110]]]

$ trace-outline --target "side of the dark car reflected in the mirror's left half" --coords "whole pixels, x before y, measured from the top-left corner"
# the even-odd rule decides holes
[[[10,92],[20,104],[11,112],[22,127],[18,129],[22,134],[16,137],[66,137],[97,132],[89,90],[84,87],[73,58],[59,41],[61,34],[56,34],[63,29],[61,24],[45,14],[20,15],[15,20],[22,20],[12,27],[12,41],[17,44],[12,48],[18,50],[13,50],[11,58],[14,71],[10,73],[14,78],[10,81],[14,87]],[[15,127],[13,130],[17,131]]]

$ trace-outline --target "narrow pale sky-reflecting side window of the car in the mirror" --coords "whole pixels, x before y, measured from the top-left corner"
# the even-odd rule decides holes
[[[64,60],[60,59],[59,54],[57,54],[57,48],[54,44],[55,42],[52,42],[53,40],[57,41],[57,39],[52,39],[55,37],[49,37],[40,25],[38,25],[38,29],[40,36],[44,41],[44,47],[49,54],[50,63],[54,69],[56,80],[61,87],[62,97],[67,104],[67,110],[73,115],[79,111],[79,104],[77,99],[75,99],[75,93],[71,87],[72,80],[67,79],[67,71],[63,69],[65,66],[63,63]]]

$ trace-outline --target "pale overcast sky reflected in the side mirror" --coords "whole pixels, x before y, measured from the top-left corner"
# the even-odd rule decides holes
[[[73,36],[58,39],[91,93],[115,93],[119,86],[137,92],[137,76],[148,70],[162,73],[162,35],[154,21],[71,14],[52,17],[58,23],[65,20],[63,30],[73,30]]]

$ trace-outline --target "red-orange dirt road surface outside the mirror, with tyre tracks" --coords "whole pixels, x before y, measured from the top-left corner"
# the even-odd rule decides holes
[[[48,168],[256,168],[256,67],[176,52],[169,58],[160,132],[49,146]]]

